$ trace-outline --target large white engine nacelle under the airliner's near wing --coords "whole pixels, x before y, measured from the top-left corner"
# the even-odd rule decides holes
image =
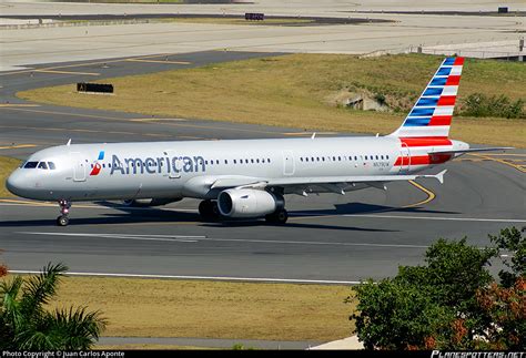
[[[265,191],[230,188],[218,196],[218,207],[227,217],[259,217],[274,213],[283,206],[283,200]]]

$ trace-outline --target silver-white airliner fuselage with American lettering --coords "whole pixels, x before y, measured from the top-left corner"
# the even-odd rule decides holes
[[[414,173],[432,165],[422,162],[427,149],[407,147],[394,136],[72,144],[31,155],[28,162],[52,163],[54,168],[50,164],[47,168],[21,167],[11,175],[8,187],[17,183],[9,187],[11,192],[43,201],[216,198],[219,192],[210,184],[223,176],[263,180]],[[418,162],[412,165],[416,157]],[[326,187],[312,190],[324,192]]]

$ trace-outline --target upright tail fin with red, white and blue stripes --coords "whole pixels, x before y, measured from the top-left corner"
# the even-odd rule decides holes
[[[390,135],[447,137],[463,64],[464,58],[446,58],[402,126]]]

